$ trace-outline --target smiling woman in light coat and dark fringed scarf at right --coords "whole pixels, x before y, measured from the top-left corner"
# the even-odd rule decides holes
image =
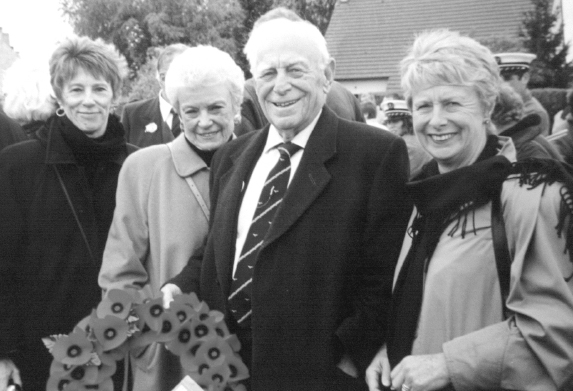
[[[475,40],[422,33],[401,75],[433,161],[407,185],[415,210],[370,390],[573,389],[573,178],[516,162],[492,134],[501,80]]]

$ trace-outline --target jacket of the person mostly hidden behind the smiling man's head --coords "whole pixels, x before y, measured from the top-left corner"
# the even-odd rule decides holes
[[[360,102],[342,84],[332,82],[330,91],[326,95],[326,105],[340,118],[350,121],[364,122]],[[263,113],[255,90],[255,79],[245,82],[243,103],[241,104],[241,123],[235,126],[235,134],[243,134],[264,128],[269,121]]]

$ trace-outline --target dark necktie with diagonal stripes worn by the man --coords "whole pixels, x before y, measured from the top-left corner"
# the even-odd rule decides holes
[[[231,284],[229,308],[241,327],[250,327],[251,325],[253,268],[276,210],[286,193],[290,177],[290,157],[301,147],[288,142],[279,144],[276,148],[280,153],[280,158],[269,173],[261,191],[257,209]]]

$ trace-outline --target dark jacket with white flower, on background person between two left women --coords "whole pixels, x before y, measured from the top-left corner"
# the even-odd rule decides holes
[[[173,141],[169,125],[163,121],[159,109],[159,97],[128,103],[123,108],[121,123],[127,142],[140,148]],[[155,123],[154,132],[146,132],[150,123]]]

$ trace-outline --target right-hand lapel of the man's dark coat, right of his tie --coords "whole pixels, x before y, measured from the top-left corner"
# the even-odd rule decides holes
[[[324,106],[261,251],[302,216],[330,181],[325,162],[336,154],[337,132],[338,118]]]

